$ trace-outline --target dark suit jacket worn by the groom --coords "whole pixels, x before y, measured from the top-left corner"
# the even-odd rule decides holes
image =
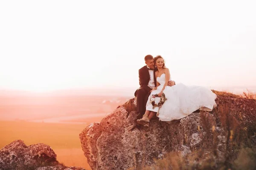
[[[156,71],[157,71],[157,69],[154,69],[154,84],[155,84],[155,86],[157,86],[157,80],[156,80],[156,76],[155,76]],[[140,88],[145,89],[146,92],[150,92],[150,90],[151,90],[151,88],[148,86],[149,80],[150,80],[150,75],[148,72],[148,67],[143,66],[141,69],[139,69],[139,81],[140,81]],[[137,90],[134,93],[135,96],[137,96],[136,95]]]

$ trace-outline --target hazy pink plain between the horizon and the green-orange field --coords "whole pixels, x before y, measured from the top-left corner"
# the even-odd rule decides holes
[[[0,121],[35,121],[111,113],[129,98],[113,96],[0,96]]]

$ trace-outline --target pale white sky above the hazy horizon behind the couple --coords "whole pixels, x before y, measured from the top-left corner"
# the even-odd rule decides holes
[[[0,89],[139,86],[145,55],[172,80],[256,85],[256,3],[2,0]]]

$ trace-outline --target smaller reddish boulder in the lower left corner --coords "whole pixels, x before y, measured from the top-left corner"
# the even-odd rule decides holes
[[[83,170],[59,164],[56,158],[46,144],[26,146],[22,140],[15,140],[0,150],[0,170]]]

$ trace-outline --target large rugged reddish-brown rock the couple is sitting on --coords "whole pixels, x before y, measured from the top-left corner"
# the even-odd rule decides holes
[[[218,106],[212,112],[195,112],[171,124],[154,119],[140,129],[134,124],[136,98],[127,101],[79,135],[90,167],[219,169],[236,166],[247,149],[252,156],[246,164],[256,168],[251,160],[256,160],[256,100],[213,92]]]

